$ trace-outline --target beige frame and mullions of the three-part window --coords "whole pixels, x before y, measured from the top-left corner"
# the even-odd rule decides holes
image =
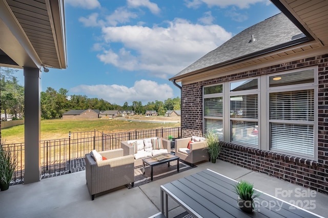
[[[292,84],[292,85],[282,85],[282,86],[274,86],[270,87],[270,77],[275,75],[284,75],[284,74],[290,74],[294,72],[300,72],[300,71],[306,71],[306,70],[313,70],[314,72],[314,82],[309,83],[300,83],[300,84]],[[253,90],[244,90],[244,91],[230,91],[230,85],[231,83],[238,82],[238,81],[244,81],[249,79],[258,79],[258,86],[257,89]],[[215,86],[215,85],[222,85],[222,93],[215,93],[215,94],[207,94],[204,95],[204,88],[209,86]],[[302,154],[295,154],[292,152],[288,152],[286,150],[278,150],[278,149],[270,149],[270,123],[273,121],[270,120],[270,93],[276,93],[276,92],[288,92],[288,91],[302,91],[302,90],[314,90],[314,121],[305,121],[302,122],[303,124],[311,123],[313,125],[313,139],[314,139],[314,153],[313,156],[308,155],[302,155]],[[277,73],[271,73],[271,74],[265,74],[260,75],[256,77],[248,77],[248,78],[242,78],[238,80],[232,80],[232,81],[226,81],[226,82],[220,82],[210,85],[204,85],[203,86],[203,133],[206,133],[206,119],[211,120],[221,120],[222,122],[222,128],[223,128],[223,139],[222,141],[228,142],[228,143],[234,143],[238,145],[248,146],[248,147],[254,147],[259,148],[261,150],[267,150],[267,151],[273,151],[278,152],[279,154],[284,155],[291,155],[296,156],[300,158],[306,158],[311,160],[318,160],[318,66],[314,67],[305,67],[305,68],[298,68],[294,70],[286,70],[283,72],[277,72]],[[231,96],[244,96],[244,95],[252,95],[257,94],[258,95],[258,146],[254,146],[251,144],[246,143],[236,143],[232,141],[232,135],[231,135],[231,121],[232,120],[239,120],[239,118],[231,118],[230,117],[230,97]],[[205,116],[204,110],[204,102],[206,98],[214,98],[214,97],[222,97],[222,117],[210,117]],[[243,121],[255,121],[253,118],[242,118]],[[292,122],[283,122],[283,123],[293,123],[298,124],[298,121],[292,121]]]

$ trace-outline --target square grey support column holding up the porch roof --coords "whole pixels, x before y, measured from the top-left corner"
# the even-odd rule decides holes
[[[24,184],[40,181],[40,72],[24,68],[25,77],[25,173]]]

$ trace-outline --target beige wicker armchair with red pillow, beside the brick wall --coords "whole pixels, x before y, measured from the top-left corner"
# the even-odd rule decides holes
[[[202,141],[199,140],[200,138]],[[178,156],[184,162],[190,163],[191,166],[201,161],[210,160],[206,141],[202,137],[194,136],[175,140],[175,156]]]

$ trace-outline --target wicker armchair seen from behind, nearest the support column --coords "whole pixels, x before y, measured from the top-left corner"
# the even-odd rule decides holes
[[[107,160],[95,161],[86,154],[86,180],[91,199],[94,195],[122,185],[134,184],[134,157],[123,156],[123,149],[100,151]]]

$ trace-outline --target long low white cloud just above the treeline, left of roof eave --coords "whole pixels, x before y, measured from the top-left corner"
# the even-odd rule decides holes
[[[124,85],[78,85],[69,90],[70,93],[86,94],[102,98],[110,103],[118,105],[124,102],[141,101],[146,104],[154,99],[164,101],[173,97],[173,90],[168,84],[158,84],[151,80],[135,81],[132,87]]]

